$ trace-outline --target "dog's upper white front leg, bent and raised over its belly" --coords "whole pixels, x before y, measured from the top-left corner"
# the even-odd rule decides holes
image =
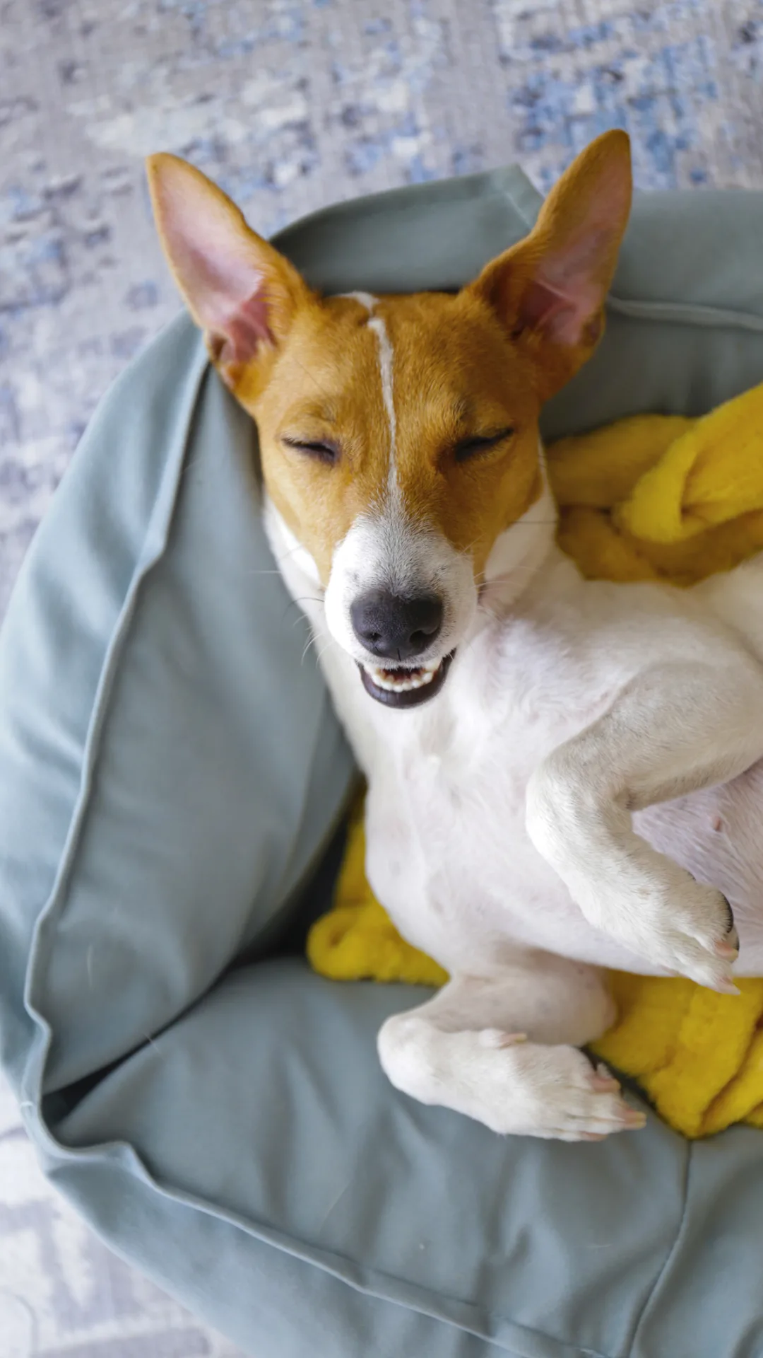
[[[529,837],[591,923],[654,966],[733,991],[728,902],[650,849],[631,812],[728,782],[762,755],[763,674],[747,656],[656,667],[538,769]]]

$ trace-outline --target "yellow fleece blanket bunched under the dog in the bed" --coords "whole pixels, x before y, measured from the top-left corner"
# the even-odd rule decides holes
[[[701,420],[634,416],[548,448],[559,543],[589,579],[688,585],[763,551],[763,384]],[[411,948],[364,873],[350,823],[334,909],[310,933],[311,966],[337,980],[448,978]],[[763,979],[718,995],[691,980],[611,974],[619,1017],[596,1043],[686,1137],[763,1127]]]

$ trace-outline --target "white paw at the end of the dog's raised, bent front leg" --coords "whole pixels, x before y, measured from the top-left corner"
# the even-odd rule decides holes
[[[671,865],[673,868],[673,865]],[[653,966],[721,994],[739,994],[739,938],[726,898],[675,868],[668,881],[600,909],[600,928]]]

